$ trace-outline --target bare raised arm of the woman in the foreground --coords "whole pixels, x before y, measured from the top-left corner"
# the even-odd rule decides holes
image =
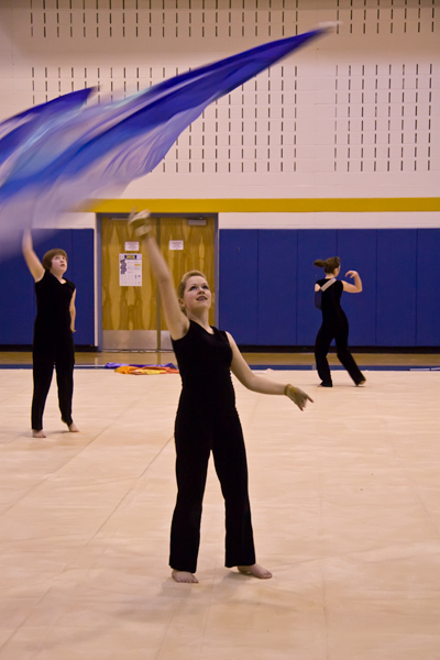
[[[148,255],[151,270],[157,282],[166,327],[172,339],[182,339],[189,330],[189,321],[183,314],[172,274],[152,231],[144,235],[144,245]]]

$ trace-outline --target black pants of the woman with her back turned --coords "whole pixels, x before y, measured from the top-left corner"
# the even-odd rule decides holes
[[[349,351],[349,323],[345,319],[338,322],[323,322],[319,329],[315,343],[315,359],[322,384],[327,386],[332,384],[327,354],[333,339],[337,344],[338,360],[346,369],[354,383],[359,385],[365,377]]]

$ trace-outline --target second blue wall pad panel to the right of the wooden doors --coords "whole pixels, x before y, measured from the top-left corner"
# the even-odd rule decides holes
[[[297,231],[258,231],[258,344],[296,344],[297,258]]]

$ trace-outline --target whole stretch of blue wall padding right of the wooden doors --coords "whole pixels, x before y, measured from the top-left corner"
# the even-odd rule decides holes
[[[342,295],[351,345],[440,345],[440,229],[221,230],[219,326],[241,344],[312,345],[322,276],[312,264],[333,255],[340,277],[359,271],[364,286]]]

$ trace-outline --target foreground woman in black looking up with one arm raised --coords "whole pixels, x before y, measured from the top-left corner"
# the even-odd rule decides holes
[[[232,337],[209,324],[211,292],[202,273],[184,275],[176,295],[152,228],[145,224],[147,216],[143,211],[131,221],[138,226],[138,235],[145,237],[183,383],[175,424],[178,493],[170,536],[172,575],[176,582],[198,582],[201,507],[212,451],[226,504],[226,565],[260,579],[272,578],[255,562],[246,454],[230,370],[249,389],[285,394],[301,410],[311,399],[293,385],[253,374]]]

